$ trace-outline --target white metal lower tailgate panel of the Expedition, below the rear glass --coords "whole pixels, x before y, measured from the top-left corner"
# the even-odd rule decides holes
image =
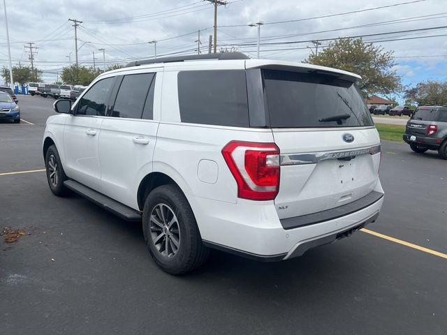
[[[348,132],[354,137],[351,143],[342,139]],[[281,152],[281,181],[274,201],[279,218],[338,207],[374,190],[380,164],[375,128],[274,130],[273,135]]]

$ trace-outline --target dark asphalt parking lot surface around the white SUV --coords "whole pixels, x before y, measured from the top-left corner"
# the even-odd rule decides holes
[[[1,228],[25,232],[0,241],[1,334],[447,334],[447,161],[434,151],[383,142],[369,232],[286,262],[215,251],[170,276],[140,224],[52,195],[38,170],[54,100],[19,99],[28,123],[0,122]]]

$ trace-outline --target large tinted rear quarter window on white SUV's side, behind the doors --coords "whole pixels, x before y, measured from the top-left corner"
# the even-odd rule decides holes
[[[180,72],[178,90],[182,122],[249,126],[244,70]]]

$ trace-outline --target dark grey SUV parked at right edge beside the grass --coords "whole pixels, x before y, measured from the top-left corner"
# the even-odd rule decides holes
[[[437,150],[447,159],[447,106],[418,107],[406,123],[404,141],[414,152]]]

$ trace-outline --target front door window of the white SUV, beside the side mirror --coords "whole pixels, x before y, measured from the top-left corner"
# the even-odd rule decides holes
[[[80,115],[105,115],[107,108],[107,98],[112,89],[112,84],[115,77],[105,78],[96,82],[87,93],[82,96],[78,103],[78,110],[76,114]]]

